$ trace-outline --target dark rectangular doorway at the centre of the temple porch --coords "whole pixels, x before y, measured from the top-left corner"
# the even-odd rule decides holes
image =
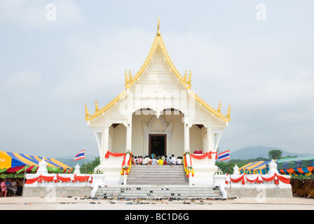
[[[149,134],[149,155],[167,155],[167,134]]]

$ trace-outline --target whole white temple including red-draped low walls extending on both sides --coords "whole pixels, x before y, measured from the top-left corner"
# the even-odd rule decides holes
[[[278,172],[274,161],[268,174],[219,174],[217,148],[230,121],[191,89],[192,72],[182,76],[168,55],[158,29],[144,63],[137,73],[125,70],[125,90],[109,104],[90,114],[100,165],[93,174],[50,174],[43,160],[36,174],[27,174],[27,197],[90,195],[120,198],[223,198],[292,197],[290,176]],[[102,97],[102,96],[100,96]],[[198,151],[198,153],[194,153]],[[182,165],[132,165],[132,155],[175,155]],[[137,176],[140,174],[140,176]],[[180,177],[181,176],[181,177]],[[122,186],[123,185],[123,186]],[[51,189],[51,193],[47,193]],[[48,195],[47,195],[48,194]]]

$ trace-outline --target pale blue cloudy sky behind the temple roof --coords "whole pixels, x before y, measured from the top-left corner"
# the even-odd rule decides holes
[[[55,20],[47,20],[55,6]],[[259,4],[266,15],[263,20]],[[84,105],[136,73],[161,18],[172,62],[214,108],[231,104],[221,150],[313,153],[313,1],[0,0],[0,150],[98,155]]]

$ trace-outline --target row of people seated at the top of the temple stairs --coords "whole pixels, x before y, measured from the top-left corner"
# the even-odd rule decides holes
[[[175,155],[171,155],[168,158],[167,155],[156,156],[155,154],[146,156],[134,156],[132,155],[132,165],[182,165],[182,157],[175,158]]]

